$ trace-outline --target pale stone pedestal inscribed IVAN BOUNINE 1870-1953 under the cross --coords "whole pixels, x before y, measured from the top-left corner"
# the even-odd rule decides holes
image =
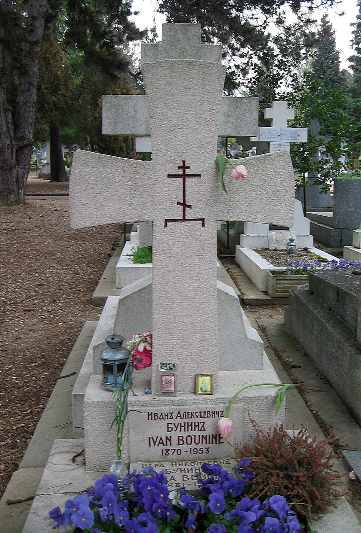
[[[115,399],[100,388],[100,376],[92,376],[84,399],[84,446],[87,470],[107,470],[112,464],[116,430]],[[150,372],[134,373],[135,396],[129,394],[129,414],[124,428],[122,458],[126,464],[161,461],[207,461],[235,457],[217,429],[232,398],[242,386],[278,383],[273,369],[219,372],[220,391],[197,396],[179,393],[176,397],[144,395],[150,386]],[[221,392],[222,391],[222,392]],[[265,431],[284,420],[284,405],[275,416],[277,387],[247,389],[234,401],[230,417],[237,442],[250,442],[255,432],[249,417]],[[141,428],[141,431],[139,429]]]

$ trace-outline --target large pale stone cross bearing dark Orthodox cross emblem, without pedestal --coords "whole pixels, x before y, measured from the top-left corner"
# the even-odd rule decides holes
[[[145,96],[132,96],[134,107],[128,106],[131,112],[146,109],[142,133],[146,128],[151,134],[153,160],[77,150],[70,217],[73,228],[153,222],[153,392],[159,362],[170,361],[178,364],[179,391],[194,391],[195,374],[213,374],[217,390],[216,222],[270,220],[291,226],[293,168],[287,152],[242,159],[247,179],[237,183],[228,168],[225,195],[215,162],[226,70],[219,48],[201,45],[197,26],[163,25],[164,35],[174,39],[172,46],[164,44],[172,59],[164,59],[163,43],[146,45]],[[119,98],[111,97],[115,124],[121,123],[116,108],[124,108]],[[240,100],[227,99],[226,108],[238,102],[245,116],[253,117]],[[131,112],[127,127],[133,131],[124,133],[139,133]],[[248,135],[254,134],[257,112],[238,129],[244,131],[245,124]],[[182,179],[172,177],[179,174]]]

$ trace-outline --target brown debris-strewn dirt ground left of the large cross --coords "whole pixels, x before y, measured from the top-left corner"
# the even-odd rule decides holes
[[[26,205],[0,207],[0,497],[18,469],[86,320],[122,224],[72,230],[68,183],[30,175]],[[61,195],[61,196],[60,196]]]

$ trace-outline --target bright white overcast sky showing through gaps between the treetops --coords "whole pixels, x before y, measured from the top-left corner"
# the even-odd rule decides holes
[[[132,17],[140,29],[153,26],[154,10],[156,6],[155,0],[133,0],[133,11],[139,11],[137,17]],[[329,21],[331,22],[336,35],[336,46],[340,50],[341,69],[348,68],[349,63],[347,58],[352,54],[350,47],[350,39],[352,38],[351,22],[356,22],[356,15],[358,14],[357,0],[342,0],[340,6],[333,7],[333,9],[323,10],[319,13],[319,20],[323,13],[327,11]],[[339,17],[337,13],[344,11],[344,15]],[[162,35],[162,22],[166,22],[164,15],[157,14],[155,17],[158,35]]]

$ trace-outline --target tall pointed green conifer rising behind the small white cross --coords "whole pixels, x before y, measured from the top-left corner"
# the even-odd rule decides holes
[[[335,32],[324,15],[313,46],[310,69],[305,71],[290,97],[296,109],[294,125],[309,127],[312,119],[319,124],[317,135],[309,130],[307,143],[291,145],[294,168],[302,175],[302,180],[297,181],[298,187],[305,187],[305,174],[308,173],[313,176],[312,184],[320,185],[321,192],[326,193],[342,171],[343,164],[339,159],[346,155],[345,141],[349,131],[345,87]]]

